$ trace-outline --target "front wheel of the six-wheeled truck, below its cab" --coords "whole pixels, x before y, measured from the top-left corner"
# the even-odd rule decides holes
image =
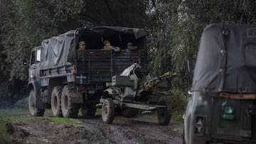
[[[36,108],[36,92],[31,90],[28,96],[28,109],[31,116],[43,116],[45,109]]]

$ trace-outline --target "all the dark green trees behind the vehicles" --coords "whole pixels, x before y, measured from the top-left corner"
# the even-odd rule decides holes
[[[0,102],[25,89],[28,67],[22,62],[31,48],[84,26],[146,28],[151,73],[178,72],[174,89],[189,89],[186,60],[196,58],[203,28],[209,23],[255,23],[255,5],[253,0],[1,0]]]

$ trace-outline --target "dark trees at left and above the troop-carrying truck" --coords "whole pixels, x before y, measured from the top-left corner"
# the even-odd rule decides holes
[[[146,26],[148,1],[0,1],[0,103],[26,89],[23,60],[42,40],[84,26]]]

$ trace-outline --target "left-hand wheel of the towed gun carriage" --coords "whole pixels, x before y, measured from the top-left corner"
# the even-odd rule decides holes
[[[114,120],[114,102],[112,99],[105,99],[102,105],[102,121],[104,123],[112,123]]]

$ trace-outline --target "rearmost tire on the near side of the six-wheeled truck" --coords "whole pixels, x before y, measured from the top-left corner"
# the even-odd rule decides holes
[[[68,86],[63,87],[61,94],[61,111],[65,118],[77,118],[80,104],[73,104],[71,101],[71,92]]]

